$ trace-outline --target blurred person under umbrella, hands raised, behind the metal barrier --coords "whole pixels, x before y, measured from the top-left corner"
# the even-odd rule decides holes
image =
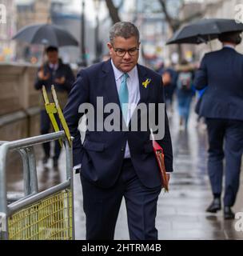
[[[66,105],[68,94],[70,93],[71,86],[74,83],[74,74],[69,65],[63,64],[61,58],[58,58],[58,48],[49,46],[46,48],[47,62],[43,64],[39,70],[34,84],[36,90],[41,90],[42,86],[46,86],[47,94],[51,91],[51,85],[55,86],[58,95],[58,102],[63,109]],[[51,98],[51,97],[49,97]],[[50,130],[50,118],[46,113],[41,99],[41,134],[47,134]],[[58,120],[58,117],[56,117]],[[44,164],[50,158],[50,142],[43,144],[45,156],[42,159]],[[58,141],[55,142],[54,147],[54,167],[58,166],[58,158],[61,153],[61,146]]]

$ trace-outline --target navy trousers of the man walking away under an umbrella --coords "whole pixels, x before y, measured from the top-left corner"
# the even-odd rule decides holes
[[[243,121],[206,118],[209,135],[208,171],[213,194],[221,194],[225,158],[225,206],[233,206],[239,189],[243,154]]]

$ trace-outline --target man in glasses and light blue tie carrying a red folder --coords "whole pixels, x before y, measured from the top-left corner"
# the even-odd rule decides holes
[[[125,198],[129,237],[157,239],[155,218],[161,177],[153,153],[150,130],[131,130],[134,106],[164,103],[161,76],[137,64],[139,32],[130,22],[118,22],[110,29],[107,44],[111,59],[81,70],[66,105],[64,114],[74,136],[74,166],[81,165],[83,207],[86,214],[86,239],[114,239],[121,199]],[[81,142],[78,108],[85,102],[94,106],[96,118],[104,122],[96,107],[102,98],[104,106],[114,103],[127,130],[87,130]],[[125,109],[128,104],[128,111]],[[145,116],[137,115],[137,123]],[[158,114],[156,116],[158,119]],[[95,119],[96,120],[96,119]],[[157,122],[157,121],[156,121]],[[165,151],[166,171],[173,171],[173,153],[169,124],[165,113],[165,135],[157,142]],[[146,123],[149,126],[149,122]],[[154,130],[153,130],[154,132]],[[169,177],[169,174],[168,174]]]

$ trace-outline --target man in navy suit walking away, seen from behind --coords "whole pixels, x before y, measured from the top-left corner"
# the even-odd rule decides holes
[[[209,135],[208,171],[213,202],[207,211],[221,210],[225,158],[224,217],[232,219],[243,152],[243,55],[235,50],[241,42],[239,32],[221,34],[219,40],[223,48],[205,54],[194,83],[198,90],[207,86],[199,110],[206,118]]]

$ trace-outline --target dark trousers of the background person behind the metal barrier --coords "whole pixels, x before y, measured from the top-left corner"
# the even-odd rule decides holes
[[[60,126],[60,121],[58,118],[58,115],[55,114],[55,118],[58,122],[58,126]],[[50,132],[50,118],[48,114],[46,113],[46,110],[41,110],[41,134],[48,134]],[[56,140],[54,146],[54,158],[58,160],[59,155],[61,154],[61,146],[58,140]],[[46,157],[50,157],[50,142],[46,142],[42,144],[43,150],[45,152]]]

